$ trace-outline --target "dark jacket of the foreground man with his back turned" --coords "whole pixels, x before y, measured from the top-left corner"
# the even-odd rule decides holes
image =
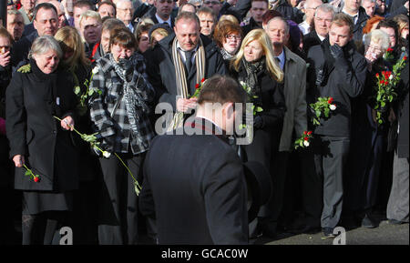
[[[152,140],[139,209],[157,218],[159,244],[248,244],[246,204],[241,159],[223,139],[184,134]]]

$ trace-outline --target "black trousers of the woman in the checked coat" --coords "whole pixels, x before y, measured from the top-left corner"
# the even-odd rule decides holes
[[[119,154],[132,175],[141,182],[143,154]],[[111,155],[100,158],[102,169],[98,193],[98,242],[101,245],[135,245],[138,243],[138,197],[134,180],[126,167]]]

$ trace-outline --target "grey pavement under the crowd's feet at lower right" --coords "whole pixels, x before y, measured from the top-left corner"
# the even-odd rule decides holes
[[[323,239],[322,232],[316,234],[281,233],[276,238],[257,238],[255,245],[409,245],[409,224],[392,225],[387,220],[380,220],[377,228],[345,229],[343,235],[335,239]]]

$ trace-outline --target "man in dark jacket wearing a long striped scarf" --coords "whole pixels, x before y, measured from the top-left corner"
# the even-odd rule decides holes
[[[218,46],[200,35],[197,15],[181,12],[174,30],[175,34],[147,52],[147,73],[159,102],[168,103],[173,111],[188,113],[196,106],[197,99],[189,98],[195,93],[195,86],[203,78],[225,75],[226,67]]]

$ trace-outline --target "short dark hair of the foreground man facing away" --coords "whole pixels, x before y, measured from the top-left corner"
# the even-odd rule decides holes
[[[203,83],[198,104],[205,102],[220,103],[220,105],[227,102],[244,104],[247,98],[246,92],[237,80],[231,76],[214,75]]]

